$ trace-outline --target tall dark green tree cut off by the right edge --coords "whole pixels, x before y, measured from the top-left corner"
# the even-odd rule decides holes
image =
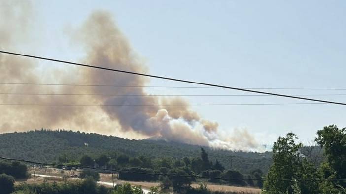
[[[346,129],[339,129],[335,125],[324,127],[317,131],[315,141],[324,148],[326,161],[320,166],[320,173],[324,179],[321,190],[324,193],[337,194],[346,188],[346,181],[332,179],[346,178]]]

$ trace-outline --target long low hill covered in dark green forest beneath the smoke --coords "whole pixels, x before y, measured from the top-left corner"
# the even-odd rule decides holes
[[[232,164],[232,169],[244,174],[258,168],[267,172],[271,165],[271,152],[233,152],[204,148],[211,161],[217,159],[226,169]],[[56,162],[62,156],[79,160],[85,154],[97,157],[102,153],[112,152],[131,157],[197,157],[200,156],[200,151],[200,146],[197,145],[149,139],[130,140],[64,130],[0,134],[0,156],[42,162]]]

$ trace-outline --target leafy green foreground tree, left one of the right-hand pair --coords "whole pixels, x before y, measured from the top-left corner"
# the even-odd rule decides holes
[[[298,181],[303,178],[315,179],[316,169],[307,160],[300,157],[302,143],[296,143],[297,136],[288,133],[279,137],[273,146],[273,164],[263,184],[264,194],[301,191],[302,194],[318,193],[316,181]]]

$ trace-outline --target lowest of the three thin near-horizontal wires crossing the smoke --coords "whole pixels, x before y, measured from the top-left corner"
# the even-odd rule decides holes
[[[327,103],[252,103],[252,104],[0,104],[0,106],[251,106],[251,105],[325,105]]]

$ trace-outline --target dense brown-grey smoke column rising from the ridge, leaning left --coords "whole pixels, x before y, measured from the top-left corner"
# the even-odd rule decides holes
[[[147,72],[147,68],[133,53],[124,35],[115,26],[111,16],[105,12],[93,13],[81,28],[82,42],[87,52],[85,62],[98,64],[106,68],[125,71]],[[85,70],[83,77],[88,78],[88,84],[108,83],[114,85],[145,85],[147,78],[105,72],[100,70]],[[104,92],[104,88],[94,88],[95,93]],[[112,92],[116,94],[146,95],[141,87],[120,87]],[[99,98],[103,104],[120,105],[152,105],[162,106],[119,106],[102,107],[112,119],[116,119],[122,129],[134,130],[147,136],[157,136],[168,141],[178,141],[231,149],[236,142],[243,141],[242,148],[255,148],[258,144],[253,138],[247,138],[247,133],[229,142],[220,139],[216,122],[202,119],[197,112],[192,111],[187,102],[181,98],[157,98],[154,96],[115,96]],[[182,104],[182,106],[164,106],[165,104]],[[184,105],[186,104],[186,105]]]

